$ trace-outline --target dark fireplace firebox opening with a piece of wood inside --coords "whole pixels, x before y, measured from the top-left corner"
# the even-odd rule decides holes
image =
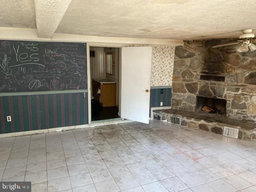
[[[210,113],[226,115],[226,104],[227,101],[225,99],[196,96],[196,112],[207,111]],[[204,109],[202,110],[202,108]],[[208,110],[209,108],[212,110]]]

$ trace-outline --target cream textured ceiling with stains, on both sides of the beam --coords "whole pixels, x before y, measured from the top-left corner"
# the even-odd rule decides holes
[[[1,4],[0,27],[36,28],[34,0],[1,0]],[[72,0],[55,33],[236,38],[240,30],[256,28],[255,10],[256,0]]]

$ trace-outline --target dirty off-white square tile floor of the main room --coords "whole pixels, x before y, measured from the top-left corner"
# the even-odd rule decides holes
[[[256,141],[150,121],[0,139],[32,192],[256,192]]]

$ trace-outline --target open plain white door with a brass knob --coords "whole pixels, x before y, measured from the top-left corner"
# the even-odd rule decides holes
[[[122,47],[121,117],[148,124],[152,47]]]

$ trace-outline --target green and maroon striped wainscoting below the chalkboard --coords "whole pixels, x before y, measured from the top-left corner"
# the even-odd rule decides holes
[[[83,124],[88,124],[87,92],[0,96],[1,134]]]

